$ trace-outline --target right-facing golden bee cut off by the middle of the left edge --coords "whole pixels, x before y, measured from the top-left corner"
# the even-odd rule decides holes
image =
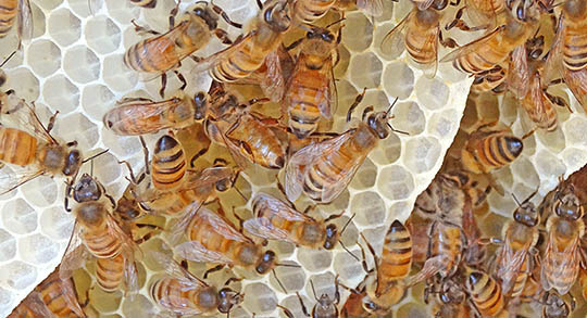
[[[48,175],[72,177],[83,163],[76,149],[77,142],[65,144],[50,135],[57,113],[50,118],[47,128],[40,123],[35,110],[21,102],[15,111],[18,128],[0,127],[0,162],[25,166],[20,176],[10,178],[0,187],[0,193],[10,192],[38,176]],[[23,130],[24,129],[24,130]]]

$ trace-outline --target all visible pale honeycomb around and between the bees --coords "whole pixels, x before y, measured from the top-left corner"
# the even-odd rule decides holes
[[[25,43],[24,52],[12,58],[3,69],[8,74],[5,87],[17,96],[35,101],[41,120],[50,113],[59,111],[53,133],[63,140],[77,140],[85,153],[99,149],[110,151],[97,157],[93,174],[105,186],[108,192],[120,198],[127,181],[126,169],[118,160],[129,162],[135,170],[143,165],[142,149],[135,137],[120,137],[102,125],[103,114],[123,97],[147,97],[158,100],[159,79],[142,80],[139,75],[123,65],[123,55],[129,46],[141,39],[132,20],[149,28],[167,29],[168,12],[175,5],[173,0],[158,0],[154,9],[134,7],[121,0],[30,0],[34,16],[34,38]],[[182,1],[180,12],[196,1]],[[230,18],[246,22],[255,15],[255,1],[217,0]],[[340,63],[335,68],[339,96],[339,109],[335,114],[333,130],[344,131],[346,112],[364,87],[366,96],[357,110],[372,104],[376,110],[385,110],[397,97],[394,106],[395,118],[390,122],[409,135],[391,135],[380,142],[363,166],[359,169],[348,190],[329,205],[320,205],[314,213],[322,217],[345,211],[345,217],[337,224],[345,224],[351,215],[352,222],[342,236],[342,242],[357,255],[358,233],[362,232],[380,251],[383,237],[394,219],[405,220],[413,203],[432,181],[449,147],[459,130],[472,79],[453,69],[450,64],[440,64],[434,78],[427,78],[405,52],[387,56],[378,44],[383,37],[411,10],[409,1],[399,3],[384,1],[384,14],[378,17],[366,16],[360,11],[346,13],[340,46]],[[453,10],[453,9],[450,9]],[[447,10],[448,16],[453,13]],[[221,20],[222,28],[230,38],[240,30],[228,27]],[[466,36],[462,36],[466,42]],[[472,38],[473,36],[471,36]],[[0,56],[8,56],[17,46],[14,30],[3,38]],[[222,44],[212,40],[197,52],[205,56],[216,52]],[[446,51],[440,51],[442,56]],[[188,59],[189,60],[189,59]],[[179,72],[189,74],[193,66],[186,61]],[[187,76],[186,91],[192,93],[207,90],[211,79],[207,74]],[[180,86],[171,75],[166,92]],[[557,185],[557,178],[578,169],[586,162],[587,139],[580,128],[587,120],[583,110],[562,91],[570,101],[573,113],[559,111],[561,128],[552,133],[537,131],[525,140],[524,152],[513,165],[497,171],[496,178],[507,192],[524,198],[538,186],[545,195]],[[492,114],[501,122],[511,124],[516,136],[524,135],[532,124],[524,117],[513,102],[507,98],[496,101],[499,110]],[[490,113],[486,107],[474,109],[472,117],[484,117]],[[147,136],[152,145],[158,136]],[[212,145],[203,157],[212,162],[216,156],[228,157],[218,147]],[[84,167],[87,169],[88,167]],[[4,167],[3,169],[10,169]],[[263,191],[280,195],[276,189],[277,174],[260,167],[250,167],[241,174],[237,188],[250,199]],[[40,281],[58,266],[67,244],[73,217],[63,208],[65,185],[60,179],[48,177],[36,180],[3,195],[0,202],[0,315],[11,313]],[[539,202],[540,198],[534,199]],[[240,215],[250,214],[250,200],[243,202],[235,191],[222,196],[224,206],[236,206]],[[310,202],[300,199],[298,207]],[[495,214],[509,216],[514,208],[510,196],[489,196]],[[487,217],[489,219],[491,215]],[[501,218],[503,219],[503,218]],[[164,226],[163,217],[148,216],[141,222]],[[164,236],[155,236],[141,245],[145,252],[163,251],[168,247]],[[334,280],[348,287],[355,287],[364,278],[360,262],[340,247],[328,252],[324,250],[296,249],[290,243],[270,242],[268,247],[278,253],[280,263],[298,267],[277,267],[276,276],[287,293],[276,281],[274,275],[251,277],[250,274],[234,271],[246,279],[233,287],[245,293],[241,306],[234,309],[232,317],[285,317],[277,305],[289,308],[300,317],[301,308],[296,292],[302,295],[307,307],[311,308],[314,295],[334,295]],[[202,264],[190,263],[190,271],[197,276],[205,270]],[[134,298],[124,297],[121,292],[107,293],[96,287],[95,263],[88,262],[85,269],[74,275],[76,288],[85,301],[86,291],[91,302],[86,308],[89,316],[99,317],[147,317],[160,314],[160,308],[150,300],[148,282],[159,275],[161,268],[146,259],[138,265],[141,291]],[[229,270],[213,275],[214,280],[225,281],[233,276]],[[80,292],[82,291],[82,292]],[[348,292],[342,292],[342,300]],[[425,317],[427,314],[417,306],[422,287],[412,292],[396,306],[396,316]]]

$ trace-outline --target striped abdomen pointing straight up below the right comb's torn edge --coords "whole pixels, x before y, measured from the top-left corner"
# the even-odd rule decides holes
[[[377,281],[380,288],[388,282],[403,279],[412,266],[412,238],[410,231],[395,220],[385,237]]]

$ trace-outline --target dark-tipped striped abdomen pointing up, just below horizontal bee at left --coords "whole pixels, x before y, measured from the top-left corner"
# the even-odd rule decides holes
[[[153,186],[164,191],[177,189],[185,179],[186,169],[186,154],[182,144],[171,136],[161,137],[151,163]]]

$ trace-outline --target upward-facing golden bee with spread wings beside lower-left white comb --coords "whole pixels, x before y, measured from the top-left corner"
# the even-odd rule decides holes
[[[115,207],[114,200],[105,193],[103,186],[88,174],[84,174],[74,187],[67,186],[67,196],[72,195],[72,191],[73,199],[77,202],[73,211],[76,221],[61,262],[60,277],[62,279],[71,277],[73,270],[82,267],[90,255],[96,258],[109,258],[110,260],[98,265],[97,276],[100,287],[111,291],[121,282],[121,275],[124,274],[126,290],[136,292],[138,278],[135,254],[140,250],[111,215],[105,199],[108,198]],[[71,211],[67,201],[65,208]]]

